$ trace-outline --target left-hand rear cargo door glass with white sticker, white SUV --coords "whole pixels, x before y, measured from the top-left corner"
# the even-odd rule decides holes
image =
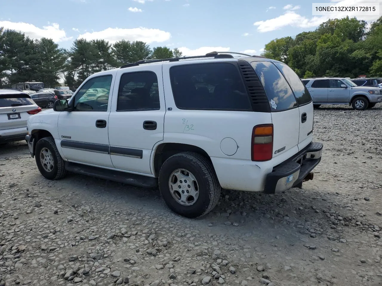
[[[251,63],[267,94],[271,111],[284,111],[297,107],[297,101],[285,77],[270,61]]]

